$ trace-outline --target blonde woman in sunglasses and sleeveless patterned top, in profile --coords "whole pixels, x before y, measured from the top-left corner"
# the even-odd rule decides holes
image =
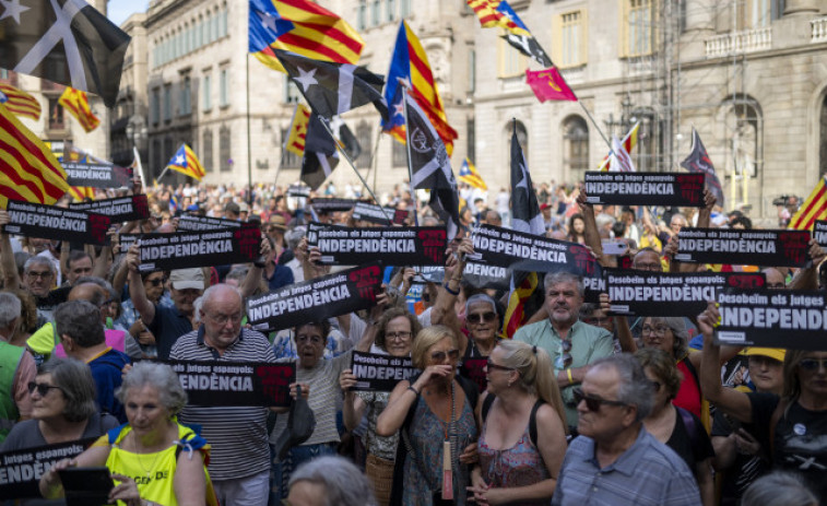
[[[548,504],[566,454],[566,415],[545,350],[504,340],[488,355],[482,401],[480,466],[471,473],[479,504]]]

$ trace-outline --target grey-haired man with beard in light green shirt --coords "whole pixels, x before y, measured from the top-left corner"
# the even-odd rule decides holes
[[[517,330],[513,339],[545,350],[552,357],[557,385],[563,395],[566,421],[577,426],[572,388],[582,381],[589,364],[614,353],[612,333],[580,321],[583,283],[570,272],[550,272],[545,276],[544,308],[548,318]]]

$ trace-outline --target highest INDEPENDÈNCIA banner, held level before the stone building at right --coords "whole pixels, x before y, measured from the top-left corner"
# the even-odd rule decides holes
[[[587,202],[605,205],[704,207],[704,174],[587,172]]]

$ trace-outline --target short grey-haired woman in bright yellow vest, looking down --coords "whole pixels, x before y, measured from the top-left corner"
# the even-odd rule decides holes
[[[62,495],[57,471],[68,467],[106,466],[118,482],[109,501],[127,506],[216,505],[206,473],[209,446],[178,424],[187,403],[178,376],[166,364],[140,362],[123,377],[117,392],[128,424],[98,439],[75,459],[55,464],[40,479],[44,497]],[[151,479],[165,475],[168,479]]]

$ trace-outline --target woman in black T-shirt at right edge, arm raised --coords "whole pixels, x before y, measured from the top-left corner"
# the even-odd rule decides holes
[[[713,303],[698,316],[704,332],[700,380],[706,398],[740,421],[752,423],[773,470],[801,474],[827,504],[827,352],[788,350],[781,396],[741,392],[721,386],[720,346],[712,342],[720,314]]]

